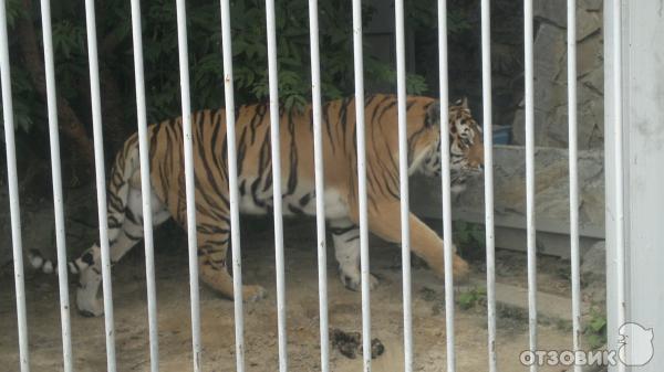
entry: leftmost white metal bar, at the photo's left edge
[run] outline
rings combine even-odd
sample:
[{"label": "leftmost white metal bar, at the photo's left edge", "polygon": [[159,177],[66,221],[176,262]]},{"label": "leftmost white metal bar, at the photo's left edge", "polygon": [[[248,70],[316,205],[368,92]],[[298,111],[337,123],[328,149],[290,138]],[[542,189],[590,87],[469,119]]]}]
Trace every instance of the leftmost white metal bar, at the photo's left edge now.
[{"label": "leftmost white metal bar, at the photo's left edge", "polygon": [[17,317],[19,323],[19,363],[21,372],[30,371],[28,347],[28,319],[25,315],[25,284],[23,279],[23,243],[21,241],[21,209],[17,178],[17,150],[14,144],[13,103],[11,98],[11,73],[7,38],[7,9],[0,0],[0,76],[2,77],[2,116],[7,150],[7,183],[9,184],[9,210],[11,214],[11,242],[13,247],[14,285],[17,291]]}]

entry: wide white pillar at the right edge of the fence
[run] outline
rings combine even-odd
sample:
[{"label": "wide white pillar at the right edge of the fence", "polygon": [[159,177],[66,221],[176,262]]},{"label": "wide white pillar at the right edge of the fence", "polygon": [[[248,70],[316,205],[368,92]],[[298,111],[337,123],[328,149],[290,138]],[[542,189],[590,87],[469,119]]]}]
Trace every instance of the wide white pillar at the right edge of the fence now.
[{"label": "wide white pillar at the right edge of the fence", "polygon": [[[621,1],[621,14],[615,12],[614,1]],[[622,326],[619,299],[622,272],[625,320],[652,329],[654,334],[651,343],[649,331],[635,329],[626,351],[632,350],[635,359],[647,358],[653,344],[653,358],[643,366],[626,366],[624,371],[655,372],[664,365],[664,11],[660,1],[608,0],[604,25],[608,349],[621,348],[618,340]],[[615,26],[619,33],[613,33]],[[616,35],[622,36],[622,49],[614,54]],[[622,74],[615,73],[616,63],[622,66]],[[618,110],[616,78],[622,85]],[[620,153],[614,145],[616,113],[622,118]],[[616,167],[615,161],[621,157],[622,164]],[[622,182],[618,184],[616,179]],[[619,244],[621,233],[616,224],[621,199],[623,244]],[[619,259],[621,246],[624,246],[624,270]],[[610,368],[610,371],[621,370],[618,365]]]}]

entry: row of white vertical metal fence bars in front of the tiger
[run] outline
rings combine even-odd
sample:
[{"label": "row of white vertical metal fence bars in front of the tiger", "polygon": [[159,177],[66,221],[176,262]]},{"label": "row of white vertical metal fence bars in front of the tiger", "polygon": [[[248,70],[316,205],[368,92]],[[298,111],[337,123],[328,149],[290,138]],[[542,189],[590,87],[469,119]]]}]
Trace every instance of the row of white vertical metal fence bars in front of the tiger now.
[{"label": "row of white vertical metal fence bars in front of the tiger", "polygon": [[[606,1],[612,6],[611,30],[612,32],[611,51],[612,61],[612,81],[614,83],[613,96],[608,96],[606,100],[613,105],[613,141],[606,144],[608,152],[613,152],[614,164],[614,189],[611,204],[615,206],[614,225],[609,226],[615,233],[615,262],[610,265],[610,277],[615,278],[614,289],[616,290],[616,300],[610,302],[610,309],[616,310],[615,322],[624,323],[627,318],[626,306],[626,281],[625,277],[625,238],[624,238],[624,209],[625,199],[623,198],[624,182],[624,160],[623,153],[623,125],[622,107],[624,97],[622,95],[622,15],[620,0]],[[279,370],[288,371],[288,350],[287,350],[287,327],[286,327],[286,285],[284,285],[284,262],[283,262],[283,222],[281,215],[281,194],[280,187],[280,149],[279,149],[279,109],[278,109],[278,82],[277,82],[277,45],[274,29],[274,1],[266,1],[266,20],[268,30],[268,54],[269,54],[269,92],[270,92],[270,119],[271,119],[271,140],[272,146],[272,166],[273,179],[273,206],[274,206],[274,243],[276,243],[276,263],[277,263],[277,306],[278,306],[278,342],[279,342]],[[328,297],[326,297],[326,270],[325,270],[325,225],[324,225],[324,203],[323,203],[323,157],[321,139],[321,79],[320,79],[320,57],[318,43],[318,3],[317,0],[310,0],[310,41],[311,41],[311,76],[312,76],[312,97],[313,97],[313,137],[315,156],[315,194],[317,194],[317,236],[318,236],[318,264],[319,264],[319,299],[320,299],[320,343],[321,343],[321,369],[329,371],[329,341],[328,341]],[[575,0],[568,0],[568,22],[575,24]],[[609,8],[609,7],[606,7]],[[94,19],[94,1],[85,1],[86,25],[87,25],[87,45],[90,62],[90,81],[93,110],[94,128],[94,148],[96,164],[96,184],[97,184],[97,204],[100,222],[100,241],[102,252],[102,274],[103,274],[103,294],[104,294],[104,316],[106,332],[106,358],[107,370],[115,371],[115,341],[114,341],[114,320],[113,302],[111,288],[111,262],[108,256],[107,221],[106,221],[106,192],[105,192],[105,172],[103,157],[102,138],[102,115],[100,100],[100,78],[97,71],[96,34]],[[526,76],[526,162],[527,162],[527,230],[528,230],[528,298],[529,298],[529,329],[530,341],[528,348],[531,351],[537,350],[537,247],[535,242],[536,219],[535,219],[535,141],[533,141],[533,13],[532,0],[525,0],[525,76]],[[51,160],[53,169],[53,193],[55,203],[55,223],[56,223],[56,243],[58,259],[60,263],[66,262],[64,222],[62,208],[62,182],[60,171],[60,148],[58,136],[58,117],[55,104],[55,82],[53,72],[53,46],[51,41],[50,24],[50,3],[49,0],[41,0],[43,39],[44,39],[44,61],[48,85],[48,106],[49,106],[49,128],[51,139]],[[225,91],[226,91],[226,119],[228,136],[228,163],[229,163],[229,188],[231,205],[231,242],[232,242],[232,267],[234,267],[234,288],[235,288],[235,325],[236,325],[236,365],[238,371],[245,371],[243,355],[243,309],[242,309],[242,276],[240,266],[240,242],[239,242],[239,212],[238,212],[238,183],[237,183],[237,156],[235,148],[235,102],[232,85],[232,53],[230,38],[230,17],[229,1],[220,0],[221,11],[221,34],[224,60],[219,63],[224,65]],[[448,79],[447,79],[447,13],[446,1],[438,1],[438,36],[439,36],[439,70],[440,70],[440,110],[442,118],[447,117],[448,109]],[[139,1],[132,0],[132,25],[134,41],[134,63],[136,76],[136,99],[138,109],[138,134],[141,147],[141,172],[143,194],[149,194],[149,170],[147,158],[147,134],[146,134],[146,108],[145,108],[145,87],[143,78],[143,51],[142,51],[142,30],[141,30],[141,9]],[[404,371],[413,371],[413,334],[412,328],[412,295],[411,295],[411,264],[409,264],[409,231],[407,223],[408,215],[408,179],[407,179],[407,159],[406,159],[406,88],[405,88],[405,40],[404,40],[404,3],[403,0],[396,0],[395,3],[396,21],[396,52],[397,52],[397,97],[398,97],[398,134],[400,134],[400,176],[401,176],[401,217],[402,217],[402,264],[403,264],[403,306],[404,306]],[[198,287],[198,259],[196,242],[196,214],[194,203],[194,169],[193,169],[193,140],[191,140],[191,113],[189,106],[189,74],[187,57],[187,30],[185,0],[177,0],[177,30],[179,45],[179,74],[181,87],[181,115],[184,127],[184,149],[185,149],[185,172],[186,172],[186,199],[187,199],[187,226],[188,226],[188,247],[189,247],[189,275],[190,275],[190,301],[191,301],[191,334],[193,334],[193,354],[194,370],[201,371],[203,344],[200,337],[200,309],[199,309],[199,287]],[[364,102],[364,82],[363,82],[363,57],[362,57],[362,12],[361,1],[353,0],[353,29],[354,44],[354,73],[355,73],[355,99],[359,103]],[[579,230],[578,230],[578,169],[577,169],[577,72],[575,72],[575,28],[568,29],[568,84],[569,84],[569,153],[570,153],[570,211],[571,211],[571,258],[572,258],[572,302],[570,309],[573,312],[573,348],[580,350],[581,325],[581,298],[579,280]],[[609,47],[609,46],[608,46]],[[494,172],[492,172],[492,137],[491,137],[491,63],[490,63],[490,2],[481,1],[481,52],[483,52],[483,100],[484,100],[484,144],[485,144],[485,200],[486,200],[486,256],[487,256],[487,295],[488,295],[488,369],[491,372],[498,371],[496,344],[500,342],[496,336],[496,268],[495,268],[495,238],[494,238]],[[23,259],[21,245],[19,193],[17,184],[15,149],[13,135],[13,115],[12,115],[12,95],[10,85],[10,64],[8,52],[7,35],[7,14],[6,0],[0,0],[0,67],[2,77],[2,105],[4,115],[4,138],[7,149],[7,169],[9,177],[11,220],[12,220],[12,243],[14,257],[15,293],[17,293],[17,316],[19,326],[19,348],[20,348],[20,369],[22,372],[30,370],[29,343],[28,343],[28,320],[25,315],[25,291],[23,284]],[[369,273],[369,225],[366,212],[366,161],[365,161],[365,137],[364,137],[364,107],[356,106],[357,121],[357,179],[360,195],[360,231],[361,231],[361,276],[362,276],[362,329],[363,329],[363,349],[371,350],[371,308],[370,308],[370,273]],[[443,119],[443,121],[445,121]],[[442,125],[442,158],[443,158],[443,211],[444,235],[452,236],[452,211],[450,211],[450,176],[449,176],[449,144],[446,134],[445,123]],[[145,216],[145,256],[146,256],[146,279],[148,293],[148,323],[151,341],[151,370],[158,371],[158,332],[157,332],[157,304],[155,294],[155,267],[154,267],[154,247],[151,219],[151,200],[144,198],[143,211]],[[446,288],[446,323],[440,327],[447,329],[447,371],[456,370],[455,364],[455,331],[454,331],[454,290],[452,276],[452,245],[445,245],[445,288]],[[611,261],[611,258],[609,258]],[[60,301],[62,318],[62,342],[63,342],[63,365],[65,371],[73,371],[70,331],[70,306],[69,288],[65,265],[59,265],[60,274]],[[611,297],[611,296],[610,296]],[[611,307],[613,306],[613,307]],[[364,371],[371,371],[371,353],[364,352]],[[439,366],[443,370],[443,366]],[[400,368],[401,370],[401,368]],[[531,371],[537,371],[537,365],[530,366]],[[624,370],[624,365],[620,369]],[[577,365],[574,371],[581,371]]]}]

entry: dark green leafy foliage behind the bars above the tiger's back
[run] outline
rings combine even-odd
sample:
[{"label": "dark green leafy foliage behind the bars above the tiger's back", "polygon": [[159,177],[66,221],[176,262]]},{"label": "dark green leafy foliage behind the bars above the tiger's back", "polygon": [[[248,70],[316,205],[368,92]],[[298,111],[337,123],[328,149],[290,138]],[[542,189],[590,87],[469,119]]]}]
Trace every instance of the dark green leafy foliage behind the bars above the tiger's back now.
[{"label": "dark green leafy foliage behind the bars above the tiger's back", "polygon": [[[35,34],[41,36],[39,4],[25,10],[20,0],[9,0],[10,28],[19,17],[31,17]],[[148,120],[176,116],[180,110],[178,46],[175,1],[153,0],[143,3],[143,47]],[[346,0],[330,0],[319,4],[321,78],[323,99],[334,99],[354,92],[352,8]],[[412,28],[435,30],[434,0],[407,1],[407,20]],[[236,103],[250,104],[267,100],[268,55],[264,2],[262,0],[231,0],[230,19],[234,54]],[[277,50],[280,102],[286,109],[300,109],[310,100],[309,11],[307,0],[277,2]],[[87,47],[83,2],[53,4],[53,46],[58,93],[66,98],[80,117],[89,117]],[[129,3],[121,0],[97,2],[98,60],[102,68],[102,99],[104,79],[113,78],[126,100],[124,111],[112,113],[134,126],[134,64]],[[467,29],[463,17],[450,12],[450,32]],[[365,24],[374,9],[363,9]],[[217,2],[187,1],[188,54],[191,107],[224,105],[224,68],[221,56],[220,12]],[[10,32],[12,52],[20,43]],[[41,47],[41,45],[40,45]],[[364,74],[367,86],[395,86],[394,66],[378,61],[365,49]],[[30,128],[31,116],[43,111],[35,107],[39,99],[27,73],[12,57],[14,82],[14,113],[20,127]],[[107,72],[104,74],[104,71]],[[427,92],[427,82],[417,74],[408,74],[409,94]],[[42,105],[40,103],[39,105]],[[105,113],[108,115],[107,113]]]}]

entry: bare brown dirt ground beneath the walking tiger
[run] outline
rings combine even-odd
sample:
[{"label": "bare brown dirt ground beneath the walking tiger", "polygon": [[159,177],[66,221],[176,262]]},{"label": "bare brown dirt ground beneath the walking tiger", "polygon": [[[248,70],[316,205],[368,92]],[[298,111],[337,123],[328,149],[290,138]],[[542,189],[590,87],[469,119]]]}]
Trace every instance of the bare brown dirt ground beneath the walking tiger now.
[{"label": "bare brown dirt ground beneath the walking tiger", "polygon": [[[186,242],[180,233],[157,237],[157,295],[162,371],[191,370],[191,336]],[[174,238],[174,236],[176,236]],[[272,232],[269,228],[243,234],[243,278],[268,289],[266,299],[245,305],[247,371],[278,371],[277,313]],[[320,370],[319,301],[313,221],[291,223],[286,230],[288,355],[290,371]],[[403,371],[403,313],[401,253],[395,245],[372,238],[371,267],[381,279],[372,291],[372,337],[385,346],[374,360],[373,371]],[[164,245],[179,249],[159,249]],[[118,371],[149,370],[146,287],[142,244],[113,269],[115,340]],[[481,254],[479,255],[481,256]],[[520,268],[519,263],[523,263]],[[519,265],[519,267],[516,267]],[[561,265],[541,265],[540,283],[552,293],[569,293]],[[484,277],[483,264],[474,276]],[[330,327],[361,331],[361,298],[345,289],[336,275],[333,252],[329,249]],[[499,253],[499,281],[526,283],[525,257]],[[70,280],[72,281],[72,280]],[[0,277],[0,368],[18,371],[18,342],[13,277],[4,269]],[[55,276],[27,274],[30,359],[33,371],[61,371],[60,310]],[[74,294],[75,286],[70,286]],[[72,305],[73,306],[73,305]],[[203,364],[205,371],[234,371],[232,302],[218,298],[201,286]],[[444,284],[427,268],[413,269],[413,327],[416,371],[443,371],[446,363]],[[487,370],[486,307],[456,308],[457,371]],[[569,349],[571,333],[556,323],[540,325],[542,349]],[[73,354],[76,371],[105,370],[103,318],[84,318],[72,311]],[[527,321],[500,315],[498,319],[498,364],[501,371],[526,371],[519,353],[528,346]],[[331,350],[332,371],[360,371],[362,360],[347,359]],[[541,368],[561,371],[562,368]]]}]

